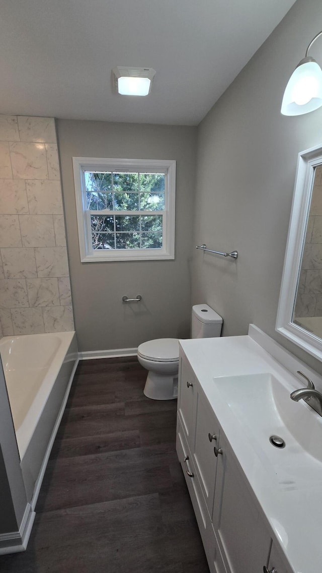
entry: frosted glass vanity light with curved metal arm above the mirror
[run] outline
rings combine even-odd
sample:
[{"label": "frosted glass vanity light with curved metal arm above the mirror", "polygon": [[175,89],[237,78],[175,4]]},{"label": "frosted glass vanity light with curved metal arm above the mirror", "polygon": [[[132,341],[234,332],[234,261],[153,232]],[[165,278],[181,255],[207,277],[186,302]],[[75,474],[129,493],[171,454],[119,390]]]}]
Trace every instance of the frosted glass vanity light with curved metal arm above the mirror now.
[{"label": "frosted glass vanity light with curved metal arm above the mirror", "polygon": [[308,51],[313,42],[322,35],[317,34],[308,45],[305,58],[297,64],[288,80],[282,101],[283,115],[302,115],[322,105],[322,70]]}]

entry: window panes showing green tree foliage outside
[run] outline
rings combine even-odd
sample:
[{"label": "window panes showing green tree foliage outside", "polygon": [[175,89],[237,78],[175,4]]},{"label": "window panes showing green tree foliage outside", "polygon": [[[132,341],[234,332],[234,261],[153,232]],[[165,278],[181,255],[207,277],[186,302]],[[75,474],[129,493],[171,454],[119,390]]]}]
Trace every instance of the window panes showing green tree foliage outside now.
[{"label": "window panes showing green tree foliage outside", "polygon": [[163,173],[86,171],[85,186],[94,250],[162,249]]}]

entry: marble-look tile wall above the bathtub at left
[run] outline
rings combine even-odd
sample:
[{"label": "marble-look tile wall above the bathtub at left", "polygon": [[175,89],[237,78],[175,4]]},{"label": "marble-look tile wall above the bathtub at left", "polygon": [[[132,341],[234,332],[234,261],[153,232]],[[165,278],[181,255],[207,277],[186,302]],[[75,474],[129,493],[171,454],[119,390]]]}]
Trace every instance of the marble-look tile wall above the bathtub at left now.
[{"label": "marble-look tile wall above the bathtub at left", "polygon": [[74,329],[51,117],[0,115],[0,336]]}]

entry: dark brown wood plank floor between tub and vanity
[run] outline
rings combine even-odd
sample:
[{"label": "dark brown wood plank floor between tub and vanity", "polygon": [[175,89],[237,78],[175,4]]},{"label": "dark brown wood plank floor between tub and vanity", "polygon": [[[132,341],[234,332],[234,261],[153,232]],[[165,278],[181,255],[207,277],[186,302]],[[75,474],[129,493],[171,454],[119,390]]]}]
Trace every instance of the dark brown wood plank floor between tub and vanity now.
[{"label": "dark brown wood plank floor between tub and vanity", "polygon": [[3,573],[209,573],[176,454],[176,401],[136,358],[80,362],[27,551]]}]

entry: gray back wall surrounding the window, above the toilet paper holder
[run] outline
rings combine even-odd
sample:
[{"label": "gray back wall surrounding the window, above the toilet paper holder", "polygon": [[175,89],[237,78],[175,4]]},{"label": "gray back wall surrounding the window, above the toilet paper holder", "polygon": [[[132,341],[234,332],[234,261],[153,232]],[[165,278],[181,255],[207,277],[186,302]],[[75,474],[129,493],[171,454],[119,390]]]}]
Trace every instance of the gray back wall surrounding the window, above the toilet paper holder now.
[{"label": "gray back wall surrounding the window, above the toilet paper holder", "polygon": [[[188,337],[196,128],[72,120],[58,120],[57,127],[79,350]],[[175,260],[80,262],[73,156],[177,161]],[[142,303],[122,303],[123,295],[138,294]]]}]

